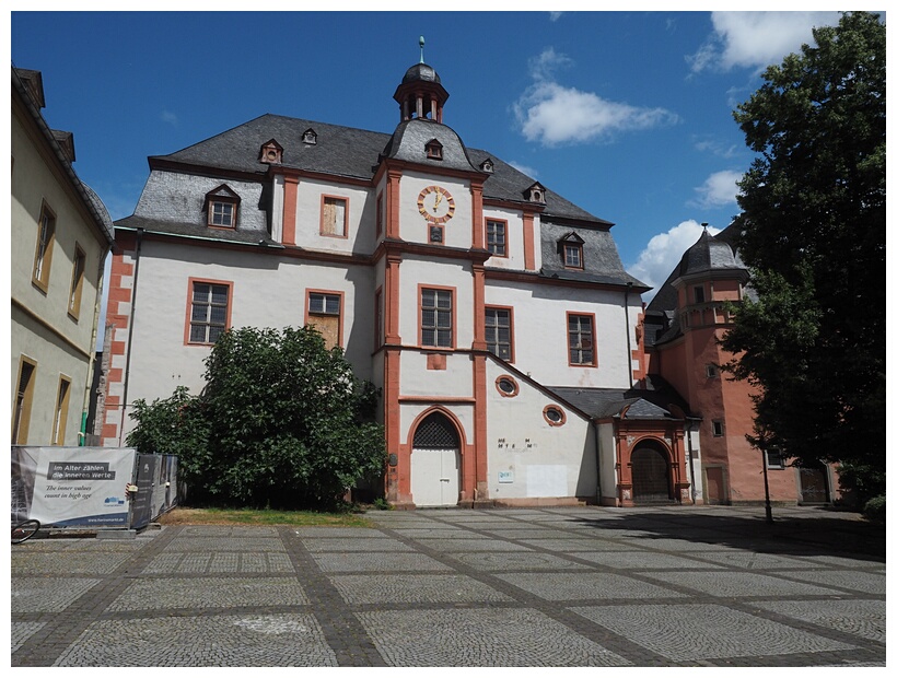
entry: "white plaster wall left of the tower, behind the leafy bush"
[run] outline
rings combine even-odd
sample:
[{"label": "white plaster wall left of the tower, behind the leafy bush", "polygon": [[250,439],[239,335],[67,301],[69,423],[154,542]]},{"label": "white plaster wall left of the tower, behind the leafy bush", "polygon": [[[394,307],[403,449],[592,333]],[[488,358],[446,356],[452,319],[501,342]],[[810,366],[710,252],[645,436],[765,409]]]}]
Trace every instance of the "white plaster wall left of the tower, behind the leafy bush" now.
[{"label": "white plaster wall left of the tower, behind the leafy bush", "polygon": [[[306,289],[343,293],[342,346],[360,378],[372,376],[373,269],[247,255],[220,248],[178,247],[144,241],[135,300],[128,401],[167,398],[178,385],[194,394],[203,385],[210,349],[184,343],[189,278],[233,283],[231,327],[301,327]],[[128,308],[127,305],[124,306]],[[127,332],[116,332],[116,341]],[[125,369],[125,356],[113,367]],[[113,395],[118,395],[113,391]],[[132,428],[125,421],[126,432]]]}]

